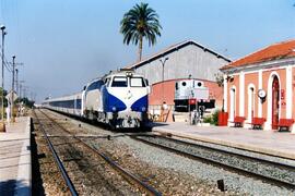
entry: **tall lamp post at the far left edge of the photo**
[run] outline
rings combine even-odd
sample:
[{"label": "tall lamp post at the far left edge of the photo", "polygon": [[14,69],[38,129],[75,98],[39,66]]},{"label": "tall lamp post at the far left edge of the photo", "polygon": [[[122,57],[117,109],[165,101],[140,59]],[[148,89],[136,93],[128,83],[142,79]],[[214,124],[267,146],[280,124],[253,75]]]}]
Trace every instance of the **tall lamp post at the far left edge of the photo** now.
[{"label": "tall lamp post at the far left edge of the photo", "polygon": [[5,36],[5,26],[1,25],[0,29],[2,32],[2,90],[1,90],[1,120],[2,120],[2,126],[1,131],[5,132],[5,124],[4,124],[4,36]]}]

